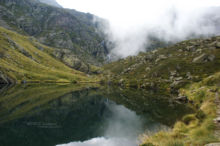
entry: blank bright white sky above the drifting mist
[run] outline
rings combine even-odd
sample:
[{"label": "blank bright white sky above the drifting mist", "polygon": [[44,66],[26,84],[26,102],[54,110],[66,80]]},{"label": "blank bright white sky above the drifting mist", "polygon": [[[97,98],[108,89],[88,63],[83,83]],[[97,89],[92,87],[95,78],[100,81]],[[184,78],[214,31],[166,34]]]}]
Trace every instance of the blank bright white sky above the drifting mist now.
[{"label": "blank bright white sky above the drifting mist", "polygon": [[118,25],[143,23],[145,18],[155,17],[169,7],[188,11],[207,6],[220,6],[220,0],[57,0],[57,2],[64,8],[89,12]]}]

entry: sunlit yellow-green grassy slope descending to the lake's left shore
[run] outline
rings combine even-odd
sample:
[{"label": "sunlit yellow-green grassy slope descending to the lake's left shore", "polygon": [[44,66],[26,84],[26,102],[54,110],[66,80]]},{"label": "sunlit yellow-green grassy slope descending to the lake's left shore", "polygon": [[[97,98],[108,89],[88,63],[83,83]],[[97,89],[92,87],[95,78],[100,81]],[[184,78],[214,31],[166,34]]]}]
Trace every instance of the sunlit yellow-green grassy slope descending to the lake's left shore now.
[{"label": "sunlit yellow-green grassy slope descending to the lake's left shore", "polygon": [[92,81],[52,57],[53,50],[0,27],[0,83]]}]

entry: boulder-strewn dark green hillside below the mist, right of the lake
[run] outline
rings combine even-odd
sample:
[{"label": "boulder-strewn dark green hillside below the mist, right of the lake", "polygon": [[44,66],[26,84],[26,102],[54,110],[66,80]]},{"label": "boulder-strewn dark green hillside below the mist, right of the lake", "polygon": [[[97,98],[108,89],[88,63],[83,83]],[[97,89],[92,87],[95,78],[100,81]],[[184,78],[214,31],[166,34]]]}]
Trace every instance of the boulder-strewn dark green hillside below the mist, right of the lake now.
[{"label": "boulder-strewn dark green hillside below the mist, right of the lake", "polygon": [[220,37],[180,42],[105,65],[108,80],[122,86],[179,87],[220,71]]}]

